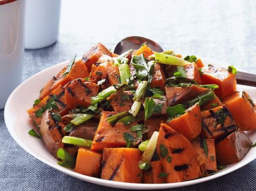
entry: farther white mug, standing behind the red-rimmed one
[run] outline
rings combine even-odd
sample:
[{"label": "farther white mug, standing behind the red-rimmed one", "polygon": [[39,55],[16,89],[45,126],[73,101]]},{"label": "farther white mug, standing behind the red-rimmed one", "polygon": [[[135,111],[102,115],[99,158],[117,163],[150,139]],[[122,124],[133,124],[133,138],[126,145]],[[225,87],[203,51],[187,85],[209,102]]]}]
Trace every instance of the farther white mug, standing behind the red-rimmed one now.
[{"label": "farther white mug, standing behind the red-rimmed one", "polygon": [[59,34],[61,0],[26,0],[25,48],[43,48]]}]

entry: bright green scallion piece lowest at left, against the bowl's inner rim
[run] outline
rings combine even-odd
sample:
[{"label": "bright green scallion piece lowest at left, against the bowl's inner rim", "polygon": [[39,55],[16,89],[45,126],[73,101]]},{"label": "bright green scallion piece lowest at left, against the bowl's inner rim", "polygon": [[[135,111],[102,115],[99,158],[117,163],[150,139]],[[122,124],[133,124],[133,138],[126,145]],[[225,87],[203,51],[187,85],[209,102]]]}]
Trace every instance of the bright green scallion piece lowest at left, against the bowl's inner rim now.
[{"label": "bright green scallion piece lowest at left, against the bowl's inner rim", "polygon": [[57,157],[61,159],[61,161],[58,161],[59,165],[64,166],[66,168],[71,168],[71,169],[75,167],[75,163],[76,163],[75,158],[63,148],[58,149]]}]

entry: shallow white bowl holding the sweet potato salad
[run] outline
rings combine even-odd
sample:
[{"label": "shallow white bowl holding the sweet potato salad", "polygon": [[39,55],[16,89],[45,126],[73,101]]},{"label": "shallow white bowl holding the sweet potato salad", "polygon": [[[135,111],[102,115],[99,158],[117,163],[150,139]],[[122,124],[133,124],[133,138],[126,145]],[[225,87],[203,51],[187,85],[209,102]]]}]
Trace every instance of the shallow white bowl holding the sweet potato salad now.
[{"label": "shallow white bowl holding the sweet potato salad", "polygon": [[[210,59],[203,59],[205,63]],[[166,184],[135,184],[135,183],[124,183],[115,182],[110,180],[104,180],[100,178],[90,177],[78,174],[70,169],[64,168],[57,164],[56,159],[54,159],[48,152],[43,141],[41,139],[35,138],[28,134],[28,131],[32,129],[33,124],[26,112],[27,109],[32,107],[34,100],[38,98],[40,89],[46,84],[46,82],[58,71],[60,71],[68,62],[62,62],[56,64],[42,72],[36,73],[26,81],[24,81],[20,86],[18,86],[13,93],[10,95],[4,110],[5,123],[8,131],[16,140],[16,142],[24,148],[28,153],[34,156],[41,162],[48,164],[49,166],[81,180],[91,182],[94,184],[99,184],[102,186],[122,188],[122,189],[167,189],[175,187],[183,187],[192,184],[198,184],[205,182],[223,175],[226,175],[234,170],[241,168],[242,166],[248,164],[249,162],[256,159],[256,148],[252,148],[243,160],[240,162],[227,165],[227,167],[219,173],[207,176],[203,178],[198,178],[195,180],[189,180],[185,182],[177,183],[166,183]],[[222,62],[212,61],[210,62],[216,66],[226,67],[227,65]],[[244,89],[249,93],[253,100],[256,100],[256,88],[247,86],[238,86],[238,89]],[[251,131],[247,133],[253,142],[256,142],[256,131]],[[241,177],[246,178],[246,177]]]}]

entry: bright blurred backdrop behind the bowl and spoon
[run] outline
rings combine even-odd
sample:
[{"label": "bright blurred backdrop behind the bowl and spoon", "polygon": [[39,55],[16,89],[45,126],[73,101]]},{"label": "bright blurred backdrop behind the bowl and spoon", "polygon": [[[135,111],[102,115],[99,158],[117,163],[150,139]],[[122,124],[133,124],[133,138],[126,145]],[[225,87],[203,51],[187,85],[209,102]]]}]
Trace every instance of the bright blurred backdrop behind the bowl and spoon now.
[{"label": "bright blurred backdrop behind the bowl and spoon", "polygon": [[82,56],[98,42],[113,50],[132,35],[256,73],[255,10],[255,0],[63,0],[59,40],[25,51],[24,79],[76,53]]}]

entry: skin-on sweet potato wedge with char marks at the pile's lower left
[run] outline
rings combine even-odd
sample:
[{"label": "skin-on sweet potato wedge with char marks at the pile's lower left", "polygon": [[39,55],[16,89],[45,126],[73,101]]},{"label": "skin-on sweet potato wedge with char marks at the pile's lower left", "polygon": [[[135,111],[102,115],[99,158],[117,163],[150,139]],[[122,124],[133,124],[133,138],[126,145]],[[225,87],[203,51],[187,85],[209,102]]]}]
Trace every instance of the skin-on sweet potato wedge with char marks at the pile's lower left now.
[{"label": "skin-on sweet potato wedge with char marks at the pile's lower left", "polygon": [[45,146],[55,158],[57,158],[57,150],[64,147],[62,143],[62,138],[65,135],[64,127],[63,123],[56,121],[52,117],[50,110],[46,110],[42,116],[40,132]]}]

